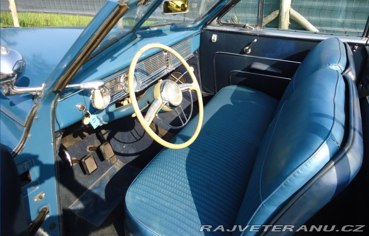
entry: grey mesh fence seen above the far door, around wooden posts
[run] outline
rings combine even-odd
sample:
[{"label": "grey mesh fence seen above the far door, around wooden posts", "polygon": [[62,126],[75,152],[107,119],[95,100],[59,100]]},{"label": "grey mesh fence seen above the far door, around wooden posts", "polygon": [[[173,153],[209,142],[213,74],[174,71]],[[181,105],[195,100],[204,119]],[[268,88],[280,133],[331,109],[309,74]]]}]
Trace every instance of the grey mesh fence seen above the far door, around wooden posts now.
[{"label": "grey mesh fence seen above the far door, around wooden posts", "polygon": [[[257,24],[258,0],[241,0],[221,18],[223,23]],[[263,17],[278,10],[280,0],[265,0]],[[291,8],[306,18],[319,32],[361,36],[369,15],[369,0],[292,0]],[[267,24],[278,28],[278,17]],[[290,19],[290,29],[304,30]]]}]

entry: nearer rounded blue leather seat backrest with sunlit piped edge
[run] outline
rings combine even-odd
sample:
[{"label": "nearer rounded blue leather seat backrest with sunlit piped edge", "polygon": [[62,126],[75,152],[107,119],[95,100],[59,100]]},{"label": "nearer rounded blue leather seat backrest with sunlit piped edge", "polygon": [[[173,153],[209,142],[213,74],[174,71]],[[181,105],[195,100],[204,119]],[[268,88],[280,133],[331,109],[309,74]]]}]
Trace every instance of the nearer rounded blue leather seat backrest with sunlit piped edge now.
[{"label": "nearer rounded blue leather seat backrest with sunlit piped edge", "polygon": [[339,151],[344,124],[341,74],[322,69],[302,81],[263,137],[235,225],[265,224]]}]

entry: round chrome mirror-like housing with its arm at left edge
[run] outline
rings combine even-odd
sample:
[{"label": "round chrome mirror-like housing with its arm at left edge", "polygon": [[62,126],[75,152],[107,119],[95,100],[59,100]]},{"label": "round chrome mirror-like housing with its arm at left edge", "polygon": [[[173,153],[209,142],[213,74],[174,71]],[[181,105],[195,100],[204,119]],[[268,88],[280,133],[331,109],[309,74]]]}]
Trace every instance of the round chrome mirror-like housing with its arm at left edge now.
[{"label": "round chrome mirror-like housing with its arm at left edge", "polygon": [[26,61],[18,51],[0,45],[0,84],[2,93],[7,95],[30,93],[42,97],[45,84],[41,87],[16,87],[15,82],[22,78]]}]

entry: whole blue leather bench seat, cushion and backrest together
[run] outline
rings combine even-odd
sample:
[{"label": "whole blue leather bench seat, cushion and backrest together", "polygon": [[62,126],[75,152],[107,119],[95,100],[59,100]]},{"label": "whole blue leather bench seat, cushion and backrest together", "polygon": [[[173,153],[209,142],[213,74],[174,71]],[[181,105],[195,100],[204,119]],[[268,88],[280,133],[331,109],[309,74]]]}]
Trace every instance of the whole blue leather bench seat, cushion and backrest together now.
[{"label": "whole blue leather bench seat, cushion and backrest together", "polygon": [[[201,225],[214,230],[268,224],[341,150],[348,122],[345,95],[350,93],[341,76],[345,58],[337,38],[322,41],[301,63],[281,101],[236,85],[219,91],[204,108],[196,141],[183,149],[163,149],[130,186],[128,232],[201,235]],[[173,141],[188,139],[196,124],[194,118]],[[323,186],[327,191],[320,197],[332,198],[336,185],[351,181],[361,164],[360,145],[357,149],[345,178],[332,181],[333,188]],[[294,223],[304,223],[322,207],[308,202],[293,214]]]}]

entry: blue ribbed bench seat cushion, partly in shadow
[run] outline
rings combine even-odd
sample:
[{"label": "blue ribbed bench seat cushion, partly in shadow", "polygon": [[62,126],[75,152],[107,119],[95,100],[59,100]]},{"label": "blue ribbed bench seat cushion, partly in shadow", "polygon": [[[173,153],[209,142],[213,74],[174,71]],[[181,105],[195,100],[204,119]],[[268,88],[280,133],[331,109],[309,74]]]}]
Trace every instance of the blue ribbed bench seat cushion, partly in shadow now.
[{"label": "blue ribbed bench seat cushion, partly in shadow", "polygon": [[[134,235],[194,235],[203,234],[201,225],[233,226],[277,104],[240,86],[219,91],[204,108],[196,141],[183,149],[163,149],[128,189],[127,230]],[[196,125],[197,117],[173,141],[187,140]]]}]

